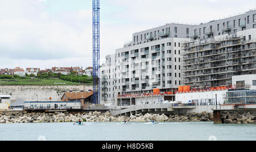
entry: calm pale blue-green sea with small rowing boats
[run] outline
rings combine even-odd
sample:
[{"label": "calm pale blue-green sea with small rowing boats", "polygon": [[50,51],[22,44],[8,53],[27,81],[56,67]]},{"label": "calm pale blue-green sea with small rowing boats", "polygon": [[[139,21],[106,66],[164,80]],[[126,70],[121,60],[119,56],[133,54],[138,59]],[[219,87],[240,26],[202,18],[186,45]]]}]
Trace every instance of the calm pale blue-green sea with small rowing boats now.
[{"label": "calm pale blue-green sea with small rowing boats", "polygon": [[256,140],[256,125],[213,123],[0,124],[1,140],[170,141]]}]

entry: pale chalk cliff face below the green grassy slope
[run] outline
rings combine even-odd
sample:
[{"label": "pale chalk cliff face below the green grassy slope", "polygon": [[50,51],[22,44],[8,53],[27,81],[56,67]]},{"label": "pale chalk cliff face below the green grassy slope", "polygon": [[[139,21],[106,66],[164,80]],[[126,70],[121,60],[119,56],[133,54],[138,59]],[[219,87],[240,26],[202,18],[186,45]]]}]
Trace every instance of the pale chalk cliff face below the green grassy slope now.
[{"label": "pale chalk cliff face below the green grassy slope", "polygon": [[28,102],[32,101],[52,101],[60,100],[64,92],[73,91],[88,91],[92,90],[92,86],[72,85],[72,86],[0,86],[0,94],[11,94],[11,100],[23,99]]}]

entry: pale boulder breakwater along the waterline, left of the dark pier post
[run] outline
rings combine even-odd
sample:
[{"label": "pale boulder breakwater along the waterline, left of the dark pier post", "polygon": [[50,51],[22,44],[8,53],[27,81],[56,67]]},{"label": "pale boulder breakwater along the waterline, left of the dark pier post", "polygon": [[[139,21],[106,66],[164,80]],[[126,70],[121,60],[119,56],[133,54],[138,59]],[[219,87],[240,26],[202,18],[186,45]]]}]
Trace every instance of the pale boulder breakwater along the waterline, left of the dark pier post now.
[{"label": "pale boulder breakwater along the waterline, left of the dark pier post", "polygon": [[113,116],[110,112],[89,112],[89,113],[23,113],[23,112],[8,112],[0,113],[0,123],[64,123],[64,122],[120,122],[120,121],[131,121],[131,122],[149,122],[152,119],[164,122],[188,122],[188,121],[212,121],[212,113],[191,113],[184,115],[170,115],[164,114],[152,114],[142,113],[130,115],[130,116]]}]

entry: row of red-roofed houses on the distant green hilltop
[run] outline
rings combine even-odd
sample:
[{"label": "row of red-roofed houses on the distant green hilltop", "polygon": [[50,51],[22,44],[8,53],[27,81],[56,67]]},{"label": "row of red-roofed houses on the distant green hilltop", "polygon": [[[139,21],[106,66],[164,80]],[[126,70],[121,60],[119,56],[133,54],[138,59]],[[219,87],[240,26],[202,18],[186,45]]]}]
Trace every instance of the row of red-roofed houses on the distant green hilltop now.
[{"label": "row of red-roofed houses on the distant green hilltop", "polygon": [[87,67],[86,69],[82,69],[82,67],[52,67],[51,69],[40,70],[40,68],[26,68],[26,70],[21,67],[15,67],[14,69],[1,69],[0,75],[19,75],[20,77],[24,77],[26,74],[43,74],[43,73],[60,73],[63,75],[68,75],[70,73],[75,72],[78,75],[88,75],[92,76],[93,67]]}]

